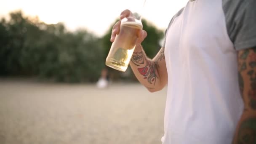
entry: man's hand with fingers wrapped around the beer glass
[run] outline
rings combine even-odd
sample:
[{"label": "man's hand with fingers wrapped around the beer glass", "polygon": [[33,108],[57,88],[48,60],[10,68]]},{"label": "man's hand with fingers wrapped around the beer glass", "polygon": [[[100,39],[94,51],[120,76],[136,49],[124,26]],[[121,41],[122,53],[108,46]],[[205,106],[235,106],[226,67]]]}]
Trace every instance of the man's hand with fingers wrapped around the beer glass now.
[{"label": "man's hand with fingers wrapped around the beer glass", "polygon": [[[131,11],[129,10],[124,10],[121,14],[120,14],[120,19],[124,19],[125,17],[129,17],[131,16]],[[120,25],[121,25],[121,20],[117,21],[117,23],[114,25],[113,29],[112,29],[112,34],[111,34],[111,38],[110,41],[114,42],[116,35],[118,35],[119,31],[120,31]],[[144,30],[139,30],[138,32],[138,39],[136,42],[136,45],[140,45],[141,42],[145,39],[145,37],[147,37],[147,32]]]}]

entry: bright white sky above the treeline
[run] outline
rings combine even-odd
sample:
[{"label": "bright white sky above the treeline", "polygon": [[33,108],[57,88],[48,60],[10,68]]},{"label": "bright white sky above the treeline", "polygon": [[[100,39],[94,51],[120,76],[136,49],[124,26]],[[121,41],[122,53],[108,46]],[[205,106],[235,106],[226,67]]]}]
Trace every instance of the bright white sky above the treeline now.
[{"label": "bright white sky above the treeline", "polygon": [[[165,30],[187,1],[147,0],[143,17]],[[144,0],[1,0],[0,17],[22,10],[26,16],[39,16],[48,24],[64,22],[69,30],[86,28],[102,36],[123,10],[140,9],[143,3]]]}]

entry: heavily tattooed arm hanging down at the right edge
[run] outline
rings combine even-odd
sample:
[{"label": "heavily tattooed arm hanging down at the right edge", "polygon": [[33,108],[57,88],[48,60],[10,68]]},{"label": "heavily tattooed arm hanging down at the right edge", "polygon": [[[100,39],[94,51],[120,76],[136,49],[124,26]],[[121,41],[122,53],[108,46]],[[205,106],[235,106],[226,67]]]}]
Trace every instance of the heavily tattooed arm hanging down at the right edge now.
[{"label": "heavily tattooed arm hanging down at the right edge", "polygon": [[238,78],[245,109],[233,144],[256,144],[256,47],[238,51]]}]

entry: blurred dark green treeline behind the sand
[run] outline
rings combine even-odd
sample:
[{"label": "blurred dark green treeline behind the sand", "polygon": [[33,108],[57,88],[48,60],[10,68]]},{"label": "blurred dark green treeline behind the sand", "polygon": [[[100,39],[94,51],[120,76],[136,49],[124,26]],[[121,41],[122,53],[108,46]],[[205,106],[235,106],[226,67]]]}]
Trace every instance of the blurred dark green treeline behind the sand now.
[{"label": "blurred dark green treeline behind the sand", "polygon": [[[24,16],[21,11],[12,12],[9,17],[0,21],[0,76],[94,82],[106,67],[112,26],[103,37],[96,37],[85,29],[70,32],[62,23],[45,24],[37,17]],[[143,24],[148,37],[142,45],[149,57],[153,57],[160,48],[163,31],[145,20]],[[109,74],[115,79],[123,75],[113,69],[109,69]]]}]

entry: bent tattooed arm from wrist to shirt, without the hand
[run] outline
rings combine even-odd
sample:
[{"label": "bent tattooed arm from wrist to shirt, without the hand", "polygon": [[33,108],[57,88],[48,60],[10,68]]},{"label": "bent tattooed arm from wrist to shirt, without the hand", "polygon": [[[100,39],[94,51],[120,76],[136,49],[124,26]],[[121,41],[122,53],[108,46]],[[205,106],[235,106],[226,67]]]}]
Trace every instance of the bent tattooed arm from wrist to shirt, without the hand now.
[{"label": "bent tattooed arm from wrist to shirt, without the hand", "polygon": [[147,58],[141,45],[137,45],[131,58],[130,66],[139,82],[150,92],[160,91],[167,83],[164,48],[154,59]]}]

